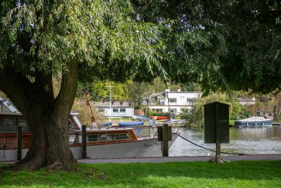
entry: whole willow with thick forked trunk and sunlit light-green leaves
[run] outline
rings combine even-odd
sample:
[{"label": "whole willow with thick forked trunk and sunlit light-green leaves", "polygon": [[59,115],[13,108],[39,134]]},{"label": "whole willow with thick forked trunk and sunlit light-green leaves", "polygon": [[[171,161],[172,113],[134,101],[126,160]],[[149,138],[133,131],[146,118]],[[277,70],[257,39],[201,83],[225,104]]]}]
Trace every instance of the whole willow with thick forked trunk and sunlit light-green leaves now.
[{"label": "whole willow with thick forked trunk and sunlit light-green leaves", "polygon": [[[4,0],[0,5],[0,90],[32,132],[19,169],[76,162],[66,124],[78,79],[120,81],[140,70],[147,77],[165,75],[157,53],[162,27],[138,21],[130,1]],[[57,96],[55,76],[61,77]]]}]

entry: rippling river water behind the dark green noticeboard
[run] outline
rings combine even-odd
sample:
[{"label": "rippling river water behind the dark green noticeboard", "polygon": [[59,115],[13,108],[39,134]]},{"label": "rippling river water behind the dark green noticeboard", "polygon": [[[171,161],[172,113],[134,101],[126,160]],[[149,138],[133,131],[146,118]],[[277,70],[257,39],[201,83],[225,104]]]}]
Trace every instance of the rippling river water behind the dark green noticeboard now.
[{"label": "rippling river water behind the dark green noticeboard", "polygon": [[[180,135],[195,144],[215,150],[215,144],[204,144],[204,129],[180,128]],[[221,152],[253,154],[281,154],[281,126],[230,127],[230,143],[221,144]],[[199,148],[178,137],[169,156],[212,156],[215,152]]]}]

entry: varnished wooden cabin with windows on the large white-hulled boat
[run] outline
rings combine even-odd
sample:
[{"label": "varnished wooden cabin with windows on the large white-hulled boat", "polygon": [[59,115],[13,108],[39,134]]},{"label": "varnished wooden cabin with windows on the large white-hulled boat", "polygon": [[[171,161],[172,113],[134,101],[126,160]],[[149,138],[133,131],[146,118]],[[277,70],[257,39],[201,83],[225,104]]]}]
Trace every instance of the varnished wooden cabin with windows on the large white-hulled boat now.
[{"label": "varnished wooden cabin with windows on the large white-hulled boat", "polygon": [[[0,98],[0,149],[17,148],[17,129],[22,127],[22,148],[28,149],[31,131],[27,120],[8,100]],[[69,144],[82,146],[82,124],[77,118],[79,113],[71,112],[69,117]],[[103,128],[86,130],[87,145],[112,144],[137,140],[133,129]]]}]

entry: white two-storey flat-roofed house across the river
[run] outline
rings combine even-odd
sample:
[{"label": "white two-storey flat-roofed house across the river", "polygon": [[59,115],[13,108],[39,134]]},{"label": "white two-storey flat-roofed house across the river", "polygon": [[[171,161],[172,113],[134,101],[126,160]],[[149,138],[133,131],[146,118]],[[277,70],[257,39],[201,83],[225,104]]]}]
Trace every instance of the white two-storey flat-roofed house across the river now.
[{"label": "white two-storey flat-roofed house across the river", "polygon": [[191,109],[195,98],[201,96],[201,92],[181,92],[180,89],[175,92],[165,90],[164,94],[158,97],[158,103],[149,103],[150,110],[178,114],[182,108]]}]

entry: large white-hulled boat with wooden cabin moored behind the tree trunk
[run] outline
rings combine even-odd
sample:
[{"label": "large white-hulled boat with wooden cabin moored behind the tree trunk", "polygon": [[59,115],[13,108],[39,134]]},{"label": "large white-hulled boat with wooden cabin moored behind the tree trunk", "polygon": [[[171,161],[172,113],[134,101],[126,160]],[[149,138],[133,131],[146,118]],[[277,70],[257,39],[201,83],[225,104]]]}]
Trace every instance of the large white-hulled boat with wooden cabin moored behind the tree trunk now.
[{"label": "large white-hulled boat with wooden cabin moored behind the tree trunk", "polygon": [[[7,102],[5,100],[5,102]],[[31,144],[29,126],[25,117],[10,103],[0,98],[0,161],[17,160],[17,127],[22,126],[22,159]],[[79,113],[70,113],[69,146],[73,157],[82,157],[82,124],[77,118]],[[136,123],[136,122],[135,122]],[[143,122],[140,123],[143,125]],[[169,147],[177,139],[178,130],[173,131]],[[86,129],[87,157],[123,158],[123,157],[161,157],[161,142],[158,142],[157,127],[103,127]]]}]

